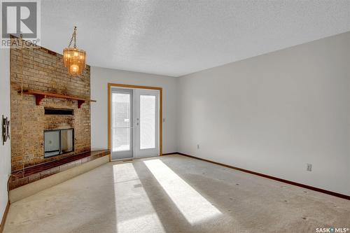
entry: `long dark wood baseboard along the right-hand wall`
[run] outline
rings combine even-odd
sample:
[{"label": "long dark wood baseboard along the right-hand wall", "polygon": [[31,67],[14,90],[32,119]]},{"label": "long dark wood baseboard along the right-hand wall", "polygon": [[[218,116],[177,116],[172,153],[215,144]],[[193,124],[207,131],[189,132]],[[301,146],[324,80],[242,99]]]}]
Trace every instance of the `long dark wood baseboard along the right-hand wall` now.
[{"label": "long dark wood baseboard along the right-hand wall", "polygon": [[313,187],[313,186],[309,186],[309,185],[304,185],[302,183],[297,183],[297,182],[294,182],[294,181],[287,181],[287,180],[284,180],[282,178],[278,178],[278,177],[274,177],[274,176],[269,176],[269,175],[265,175],[265,174],[261,174],[261,173],[258,173],[258,172],[255,172],[255,171],[249,171],[249,170],[246,170],[246,169],[241,169],[239,167],[234,167],[234,166],[231,166],[231,165],[228,165],[228,164],[222,164],[220,162],[214,162],[214,161],[211,161],[211,160],[206,160],[206,159],[202,159],[200,157],[195,157],[193,155],[187,155],[187,154],[184,154],[184,153],[177,153],[179,155],[183,155],[183,156],[186,156],[186,157],[191,157],[193,159],[197,159],[197,160],[202,160],[202,161],[205,161],[205,162],[211,162],[212,164],[217,164],[217,165],[220,165],[220,166],[223,166],[223,167],[228,167],[230,169],[235,169],[235,170],[238,170],[238,171],[243,171],[243,172],[246,172],[248,174],[253,174],[253,175],[256,175],[256,176],[262,176],[264,178],[269,178],[269,179],[272,179],[274,181],[279,181],[279,182],[283,182],[283,183],[288,183],[290,185],[295,185],[295,186],[298,186],[298,187],[301,187],[301,188],[307,188],[309,190],[314,190],[316,192],[323,192],[327,195],[332,195],[332,196],[335,196],[335,197],[340,197],[340,198],[344,198],[344,199],[348,199],[350,200],[350,196],[347,196],[347,195],[343,195],[341,193],[337,193],[337,192],[332,192],[332,191],[329,191],[329,190],[323,190],[321,188],[316,188],[316,187]]}]

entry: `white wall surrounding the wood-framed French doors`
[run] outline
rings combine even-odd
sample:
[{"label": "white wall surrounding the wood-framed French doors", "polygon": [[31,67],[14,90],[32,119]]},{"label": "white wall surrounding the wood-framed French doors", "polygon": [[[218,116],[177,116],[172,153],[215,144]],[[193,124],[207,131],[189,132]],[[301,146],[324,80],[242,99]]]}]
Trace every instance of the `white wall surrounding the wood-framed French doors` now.
[{"label": "white wall surrounding the wood-framed French doors", "polygon": [[120,71],[91,67],[91,146],[108,147],[108,83],[144,85],[163,88],[163,153],[173,153],[176,148],[176,78],[147,73]]}]

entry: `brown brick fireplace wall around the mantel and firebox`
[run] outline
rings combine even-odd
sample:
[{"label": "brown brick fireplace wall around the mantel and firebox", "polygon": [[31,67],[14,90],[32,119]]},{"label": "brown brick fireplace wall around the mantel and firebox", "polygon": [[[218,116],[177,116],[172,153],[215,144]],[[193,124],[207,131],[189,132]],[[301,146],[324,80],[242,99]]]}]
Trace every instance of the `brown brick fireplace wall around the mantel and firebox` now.
[{"label": "brown brick fireplace wall around the mantel and firebox", "polygon": [[[90,66],[81,76],[70,76],[63,66],[62,55],[45,48],[24,49],[22,54],[23,62],[19,49],[10,50],[12,171],[90,151],[90,103],[78,108],[76,101],[48,98],[36,106],[34,96],[18,94],[23,83],[25,90],[90,99]],[[45,115],[44,107],[71,108],[74,115]],[[74,128],[75,151],[44,158],[43,131],[66,128]]]}]

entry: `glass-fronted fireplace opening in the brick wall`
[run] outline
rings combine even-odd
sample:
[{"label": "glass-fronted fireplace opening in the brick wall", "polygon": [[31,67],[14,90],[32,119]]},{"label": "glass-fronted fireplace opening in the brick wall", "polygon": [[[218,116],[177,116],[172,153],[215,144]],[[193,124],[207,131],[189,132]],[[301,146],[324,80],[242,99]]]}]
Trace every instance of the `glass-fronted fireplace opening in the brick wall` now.
[{"label": "glass-fronted fireplace opening in the brick wall", "polygon": [[63,155],[74,151],[74,129],[44,131],[44,157]]}]

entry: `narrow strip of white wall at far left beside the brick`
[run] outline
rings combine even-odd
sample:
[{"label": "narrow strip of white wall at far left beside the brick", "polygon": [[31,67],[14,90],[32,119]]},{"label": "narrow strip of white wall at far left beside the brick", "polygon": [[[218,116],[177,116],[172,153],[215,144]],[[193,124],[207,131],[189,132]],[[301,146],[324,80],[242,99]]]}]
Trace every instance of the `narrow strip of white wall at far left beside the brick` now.
[{"label": "narrow strip of white wall at far left beside the brick", "polygon": [[[10,118],[10,50],[0,49],[0,133],[2,115]],[[10,141],[2,145],[0,135],[0,221],[8,202],[7,181],[10,175]]]}]

